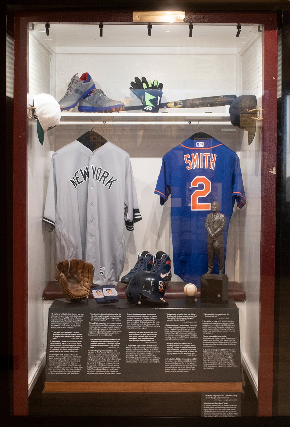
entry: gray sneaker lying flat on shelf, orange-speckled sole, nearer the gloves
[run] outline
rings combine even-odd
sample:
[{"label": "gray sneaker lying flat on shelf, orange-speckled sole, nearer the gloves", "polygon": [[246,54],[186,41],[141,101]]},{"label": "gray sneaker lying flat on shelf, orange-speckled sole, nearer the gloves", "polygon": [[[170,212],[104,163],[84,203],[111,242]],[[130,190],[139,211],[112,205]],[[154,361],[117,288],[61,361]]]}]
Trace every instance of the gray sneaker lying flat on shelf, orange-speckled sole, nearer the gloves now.
[{"label": "gray sneaker lying flat on shelf, orange-speckled sole, nearer the gloves", "polygon": [[102,89],[93,89],[78,104],[81,113],[113,113],[123,111],[124,102],[108,98]]}]

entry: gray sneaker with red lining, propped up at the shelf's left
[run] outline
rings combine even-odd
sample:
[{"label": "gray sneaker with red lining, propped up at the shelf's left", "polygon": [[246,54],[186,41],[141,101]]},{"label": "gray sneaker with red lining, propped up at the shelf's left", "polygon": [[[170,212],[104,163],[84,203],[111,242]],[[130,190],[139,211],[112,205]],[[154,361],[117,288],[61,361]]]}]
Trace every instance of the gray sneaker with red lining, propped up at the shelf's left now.
[{"label": "gray sneaker with red lining, propped up at the shelf's left", "polygon": [[75,74],[68,85],[64,97],[58,102],[61,111],[70,110],[77,103],[86,97],[96,86],[89,73],[83,73],[80,78]]}]

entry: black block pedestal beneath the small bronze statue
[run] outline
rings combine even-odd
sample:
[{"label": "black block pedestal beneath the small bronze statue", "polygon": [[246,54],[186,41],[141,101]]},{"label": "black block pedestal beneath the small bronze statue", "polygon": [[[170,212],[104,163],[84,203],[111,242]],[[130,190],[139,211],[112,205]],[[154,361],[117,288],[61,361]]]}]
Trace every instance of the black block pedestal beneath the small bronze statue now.
[{"label": "black block pedestal beneath the small bronze statue", "polygon": [[229,278],[226,274],[203,274],[200,279],[200,302],[222,304],[229,301]]}]

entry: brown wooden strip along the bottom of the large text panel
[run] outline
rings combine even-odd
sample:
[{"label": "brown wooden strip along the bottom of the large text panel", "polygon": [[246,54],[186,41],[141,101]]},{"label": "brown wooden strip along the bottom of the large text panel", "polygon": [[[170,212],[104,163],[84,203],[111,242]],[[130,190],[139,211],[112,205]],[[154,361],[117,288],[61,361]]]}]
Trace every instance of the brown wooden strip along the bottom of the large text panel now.
[{"label": "brown wooden strip along the bottom of the large text panel", "polygon": [[200,393],[200,392],[241,392],[241,382],[216,383],[101,383],[101,382],[53,382],[44,383],[45,392],[81,393]]}]

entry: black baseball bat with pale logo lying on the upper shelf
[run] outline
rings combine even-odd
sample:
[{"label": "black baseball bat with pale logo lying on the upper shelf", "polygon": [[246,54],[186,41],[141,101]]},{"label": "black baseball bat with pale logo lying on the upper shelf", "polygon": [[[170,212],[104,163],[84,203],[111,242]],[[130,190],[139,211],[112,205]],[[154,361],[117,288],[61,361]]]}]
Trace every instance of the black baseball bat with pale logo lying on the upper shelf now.
[{"label": "black baseball bat with pale logo lying on the upper shelf", "polygon": [[[182,99],[181,101],[161,102],[159,108],[199,108],[199,107],[218,107],[221,105],[231,105],[236,95],[220,95],[217,97],[203,97]],[[142,110],[144,105],[132,105],[124,107],[120,111]]]}]

